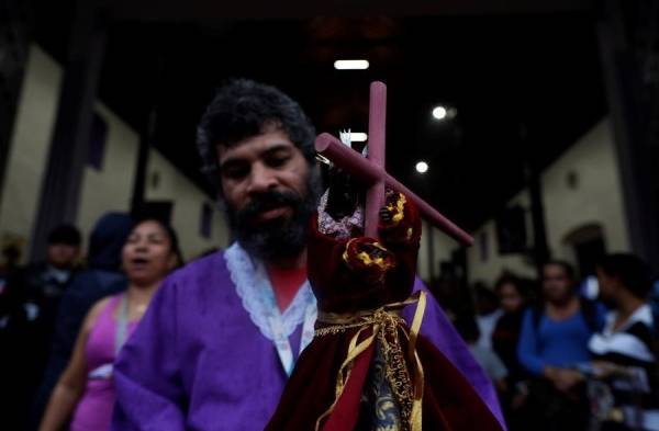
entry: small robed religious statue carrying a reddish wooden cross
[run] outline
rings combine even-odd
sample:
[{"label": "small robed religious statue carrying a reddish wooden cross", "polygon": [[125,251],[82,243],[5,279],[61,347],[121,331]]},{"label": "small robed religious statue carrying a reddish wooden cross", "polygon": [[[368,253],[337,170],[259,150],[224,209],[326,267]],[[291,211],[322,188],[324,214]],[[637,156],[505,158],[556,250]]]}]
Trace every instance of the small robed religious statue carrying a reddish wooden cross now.
[{"label": "small robed religious statue carrying a reddish wooden cross", "polygon": [[[384,91],[371,86],[368,159],[344,136],[316,139],[332,167],[308,245],[315,334],[266,430],[504,429],[420,333],[426,293],[413,285],[421,213],[462,242],[471,239],[384,171]],[[401,316],[409,305],[416,306],[410,325]]]}]

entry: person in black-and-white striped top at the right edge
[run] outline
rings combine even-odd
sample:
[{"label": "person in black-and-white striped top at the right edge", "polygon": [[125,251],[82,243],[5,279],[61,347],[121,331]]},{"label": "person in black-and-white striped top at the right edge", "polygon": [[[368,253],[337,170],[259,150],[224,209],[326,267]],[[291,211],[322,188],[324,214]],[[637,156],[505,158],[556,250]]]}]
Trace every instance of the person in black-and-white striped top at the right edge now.
[{"label": "person in black-and-white striped top at the right edge", "polygon": [[594,375],[611,388],[614,408],[603,430],[659,430],[657,322],[648,304],[648,265],[633,254],[608,254],[597,269],[600,297],[611,311],[589,348]]}]

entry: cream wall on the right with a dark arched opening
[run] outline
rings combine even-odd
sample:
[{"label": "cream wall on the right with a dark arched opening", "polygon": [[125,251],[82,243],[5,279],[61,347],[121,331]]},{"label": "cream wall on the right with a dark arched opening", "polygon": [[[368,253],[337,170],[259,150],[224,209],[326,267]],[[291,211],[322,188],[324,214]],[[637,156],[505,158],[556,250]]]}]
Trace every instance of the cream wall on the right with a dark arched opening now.
[{"label": "cream wall on the right with a dark arched opening", "polygon": [[[629,251],[621,174],[617,165],[613,132],[608,118],[599,122],[541,174],[543,205],[547,242],[554,258],[576,263],[572,247],[566,237],[589,224],[603,227],[606,251]],[[568,178],[576,175],[576,186]],[[526,190],[520,192],[510,205],[521,204],[529,211]],[[532,240],[532,224],[527,213],[527,237]],[[489,256],[481,259],[479,236],[485,232]],[[488,220],[473,234],[474,247],[467,253],[470,282],[493,283],[503,270],[520,275],[535,274],[533,264],[521,254],[500,256],[494,219]],[[529,243],[530,246],[530,243]]]}]

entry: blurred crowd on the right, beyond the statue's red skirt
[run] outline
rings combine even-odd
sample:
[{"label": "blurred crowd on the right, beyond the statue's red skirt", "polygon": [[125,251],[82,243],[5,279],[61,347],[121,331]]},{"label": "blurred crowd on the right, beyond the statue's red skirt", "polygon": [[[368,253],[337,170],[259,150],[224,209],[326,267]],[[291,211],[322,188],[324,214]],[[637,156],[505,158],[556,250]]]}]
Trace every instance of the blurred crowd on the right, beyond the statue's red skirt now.
[{"label": "blurred crowd on the right, beyond the statue's red skirt", "polygon": [[504,272],[471,298],[436,291],[510,430],[659,430],[656,286],[641,259],[616,253],[583,280],[550,261],[539,280]]}]

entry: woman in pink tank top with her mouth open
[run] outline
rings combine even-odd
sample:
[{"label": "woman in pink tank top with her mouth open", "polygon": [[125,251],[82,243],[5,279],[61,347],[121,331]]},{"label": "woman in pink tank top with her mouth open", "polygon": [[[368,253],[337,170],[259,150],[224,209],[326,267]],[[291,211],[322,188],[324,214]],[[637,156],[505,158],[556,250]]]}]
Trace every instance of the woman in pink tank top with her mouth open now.
[{"label": "woman in pink tank top with her mouth open", "polygon": [[40,431],[58,431],[71,415],[71,431],[110,429],[113,363],[165,276],[180,263],[175,231],[154,219],[138,223],[123,247],[122,262],[127,290],[101,299],[85,318]]}]

